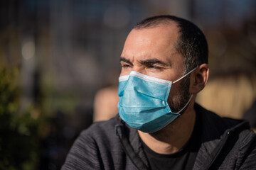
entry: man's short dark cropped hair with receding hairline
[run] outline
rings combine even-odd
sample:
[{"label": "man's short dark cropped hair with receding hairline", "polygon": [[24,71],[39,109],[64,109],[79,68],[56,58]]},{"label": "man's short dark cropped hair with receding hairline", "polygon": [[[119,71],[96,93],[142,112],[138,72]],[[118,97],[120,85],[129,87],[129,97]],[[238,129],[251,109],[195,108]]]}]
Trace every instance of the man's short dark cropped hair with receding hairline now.
[{"label": "man's short dark cropped hair with receding hairline", "polygon": [[193,23],[176,16],[154,16],[137,23],[134,29],[154,28],[174,21],[179,28],[176,50],[183,55],[184,72],[208,63],[208,44],[203,32]]}]

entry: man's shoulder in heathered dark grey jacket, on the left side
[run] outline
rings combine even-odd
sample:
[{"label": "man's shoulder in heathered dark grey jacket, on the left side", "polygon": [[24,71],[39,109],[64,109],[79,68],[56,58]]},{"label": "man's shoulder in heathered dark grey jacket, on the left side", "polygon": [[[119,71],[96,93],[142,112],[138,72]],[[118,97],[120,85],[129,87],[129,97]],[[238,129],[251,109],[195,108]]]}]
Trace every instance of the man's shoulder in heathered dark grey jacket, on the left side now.
[{"label": "man's shoulder in heathered dark grey jacket, on the left side", "polygon": [[62,169],[102,169],[108,157],[119,155],[121,146],[115,135],[117,118],[93,123],[75,140]]}]

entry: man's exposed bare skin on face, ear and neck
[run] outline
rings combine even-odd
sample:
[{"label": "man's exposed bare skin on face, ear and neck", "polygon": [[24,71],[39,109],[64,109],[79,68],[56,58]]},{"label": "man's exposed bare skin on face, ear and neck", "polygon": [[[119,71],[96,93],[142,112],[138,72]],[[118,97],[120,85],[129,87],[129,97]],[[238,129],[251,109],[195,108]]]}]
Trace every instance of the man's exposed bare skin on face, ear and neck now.
[{"label": "man's exposed bare skin on face, ear and neck", "polygon": [[[155,28],[132,30],[124,43],[120,63],[120,76],[129,75],[131,71],[140,72],[151,77],[175,81],[183,76],[183,56],[176,51],[178,39],[176,23],[161,24]],[[186,144],[193,132],[196,112],[193,109],[196,94],[203,89],[208,80],[208,65],[201,64],[191,73],[189,94],[194,94],[186,111],[174,122],[158,132],[149,134],[139,131],[143,142],[154,152],[171,154]],[[178,85],[173,84],[169,98],[174,103],[179,100]]]}]

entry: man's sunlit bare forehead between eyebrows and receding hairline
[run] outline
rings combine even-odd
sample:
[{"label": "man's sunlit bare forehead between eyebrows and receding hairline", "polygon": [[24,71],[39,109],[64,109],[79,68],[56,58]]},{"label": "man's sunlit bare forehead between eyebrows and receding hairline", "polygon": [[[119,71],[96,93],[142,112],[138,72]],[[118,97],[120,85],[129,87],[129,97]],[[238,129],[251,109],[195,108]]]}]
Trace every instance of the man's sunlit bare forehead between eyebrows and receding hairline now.
[{"label": "man's sunlit bare forehead between eyebrows and receding hairline", "polygon": [[176,23],[154,28],[133,29],[124,43],[122,57],[155,57],[164,59],[176,51],[179,28]]}]

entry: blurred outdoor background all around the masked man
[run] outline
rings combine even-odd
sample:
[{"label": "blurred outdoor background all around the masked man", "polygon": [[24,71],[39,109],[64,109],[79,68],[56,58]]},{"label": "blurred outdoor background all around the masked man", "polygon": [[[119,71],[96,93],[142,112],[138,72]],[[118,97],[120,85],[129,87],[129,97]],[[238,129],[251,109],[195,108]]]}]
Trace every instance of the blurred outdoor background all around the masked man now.
[{"label": "blurred outdoor background all around the masked man", "polygon": [[1,1],[0,169],[60,169],[81,130],[116,114],[124,40],[154,15],[206,34],[210,79],[198,103],[255,123],[255,9],[255,0]]}]

